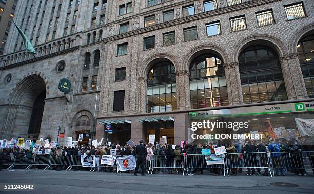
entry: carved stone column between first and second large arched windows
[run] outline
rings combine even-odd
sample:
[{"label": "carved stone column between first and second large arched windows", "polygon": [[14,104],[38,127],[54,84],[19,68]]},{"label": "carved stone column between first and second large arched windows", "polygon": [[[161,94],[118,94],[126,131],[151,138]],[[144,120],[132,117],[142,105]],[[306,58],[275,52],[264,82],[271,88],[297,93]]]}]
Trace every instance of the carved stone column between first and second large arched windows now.
[{"label": "carved stone column between first and second large arched windows", "polygon": [[180,70],[175,72],[176,76],[176,96],[177,109],[187,110],[191,108],[190,101],[190,77],[187,70]]}]

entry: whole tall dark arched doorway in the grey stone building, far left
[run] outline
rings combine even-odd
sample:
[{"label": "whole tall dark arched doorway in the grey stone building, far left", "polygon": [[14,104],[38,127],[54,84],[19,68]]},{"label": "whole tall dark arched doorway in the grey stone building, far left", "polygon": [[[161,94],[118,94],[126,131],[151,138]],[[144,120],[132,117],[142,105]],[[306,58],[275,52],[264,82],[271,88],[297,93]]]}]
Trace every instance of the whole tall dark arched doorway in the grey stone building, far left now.
[{"label": "whole tall dark arched doorway in the grey stone building, far left", "polygon": [[3,125],[3,138],[38,139],[46,93],[46,83],[37,74],[25,77],[16,85]]}]

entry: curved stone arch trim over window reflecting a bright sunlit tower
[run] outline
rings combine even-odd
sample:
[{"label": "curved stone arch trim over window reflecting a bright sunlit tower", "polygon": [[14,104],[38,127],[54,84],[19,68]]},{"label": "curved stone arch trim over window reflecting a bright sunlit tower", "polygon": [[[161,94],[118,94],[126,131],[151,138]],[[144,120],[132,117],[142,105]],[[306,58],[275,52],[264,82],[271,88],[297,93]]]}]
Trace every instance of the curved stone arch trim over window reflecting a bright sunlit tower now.
[{"label": "curved stone arch trim over window reflecting a bright sunlit tower", "polygon": [[222,60],[224,63],[227,63],[230,61],[226,50],[224,50],[223,48],[221,48],[217,45],[206,44],[206,45],[200,45],[200,46],[194,47],[185,54],[185,57],[183,59],[182,69],[189,71],[190,64],[191,64],[192,60],[195,58],[195,54],[197,54],[203,50],[214,51],[215,53],[217,53],[218,55],[220,55],[222,57]]}]

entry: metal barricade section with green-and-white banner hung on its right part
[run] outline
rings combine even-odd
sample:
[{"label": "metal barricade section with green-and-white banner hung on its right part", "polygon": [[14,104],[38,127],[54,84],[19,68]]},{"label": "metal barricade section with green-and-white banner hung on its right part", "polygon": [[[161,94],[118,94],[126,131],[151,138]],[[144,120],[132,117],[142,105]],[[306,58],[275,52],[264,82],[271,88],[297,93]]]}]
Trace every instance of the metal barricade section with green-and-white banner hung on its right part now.
[{"label": "metal barricade section with green-and-white banner hung on its right part", "polygon": [[223,169],[225,176],[225,162],[223,164],[211,164],[207,165],[206,155],[203,154],[188,154],[185,157],[185,169],[186,175],[189,169]]}]

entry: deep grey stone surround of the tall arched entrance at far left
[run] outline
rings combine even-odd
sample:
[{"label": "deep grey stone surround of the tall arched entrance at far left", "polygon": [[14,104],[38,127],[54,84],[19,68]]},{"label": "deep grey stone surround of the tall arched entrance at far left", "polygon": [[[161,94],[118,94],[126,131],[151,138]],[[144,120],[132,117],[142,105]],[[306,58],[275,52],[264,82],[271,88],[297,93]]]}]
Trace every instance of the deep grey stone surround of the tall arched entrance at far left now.
[{"label": "deep grey stone surround of the tall arched entrance at far left", "polygon": [[[48,80],[38,71],[23,76],[9,94],[6,118],[2,126],[2,138],[11,136],[25,137],[28,134],[28,125],[35,99],[42,92],[49,94]],[[13,129],[13,130],[12,130]]]}]

